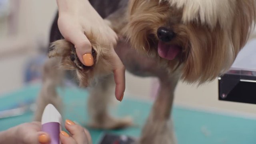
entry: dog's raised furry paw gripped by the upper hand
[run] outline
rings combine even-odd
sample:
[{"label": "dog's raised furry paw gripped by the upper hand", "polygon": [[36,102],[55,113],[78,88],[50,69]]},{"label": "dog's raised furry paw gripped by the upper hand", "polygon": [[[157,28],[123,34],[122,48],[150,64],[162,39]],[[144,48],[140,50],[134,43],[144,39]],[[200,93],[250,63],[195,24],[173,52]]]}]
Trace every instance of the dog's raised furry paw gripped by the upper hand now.
[{"label": "dog's raised furry paw gripped by the upper hand", "polygon": [[[61,57],[60,68],[65,70],[76,70],[80,86],[93,86],[98,78],[112,74],[112,63],[109,56],[108,46],[96,43],[93,35],[87,35],[92,48],[96,51],[94,56],[94,66],[84,66],[76,55],[74,45],[66,40],[57,40],[51,44],[49,58]],[[73,56],[73,58],[71,58]],[[72,60],[73,59],[73,60]]]}]

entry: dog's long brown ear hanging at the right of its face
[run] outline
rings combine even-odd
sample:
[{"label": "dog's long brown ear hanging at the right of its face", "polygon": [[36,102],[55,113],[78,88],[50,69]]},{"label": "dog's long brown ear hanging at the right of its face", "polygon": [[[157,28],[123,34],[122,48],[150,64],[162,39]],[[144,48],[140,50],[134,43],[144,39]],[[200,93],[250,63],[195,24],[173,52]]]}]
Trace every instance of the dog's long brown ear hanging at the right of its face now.
[{"label": "dog's long brown ear hanging at the right of its face", "polygon": [[230,6],[233,6],[231,21],[218,22],[213,29],[196,23],[186,25],[189,38],[183,70],[186,81],[203,83],[224,74],[248,41],[255,25],[256,1],[237,0]]}]

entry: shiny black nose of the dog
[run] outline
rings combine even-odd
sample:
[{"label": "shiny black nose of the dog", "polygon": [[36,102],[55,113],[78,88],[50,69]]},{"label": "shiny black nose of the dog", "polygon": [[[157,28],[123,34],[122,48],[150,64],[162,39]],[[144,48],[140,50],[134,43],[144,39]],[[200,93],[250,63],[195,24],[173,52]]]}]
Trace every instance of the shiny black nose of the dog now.
[{"label": "shiny black nose of the dog", "polygon": [[163,42],[170,42],[175,37],[175,34],[168,28],[160,27],[157,30],[157,36]]}]

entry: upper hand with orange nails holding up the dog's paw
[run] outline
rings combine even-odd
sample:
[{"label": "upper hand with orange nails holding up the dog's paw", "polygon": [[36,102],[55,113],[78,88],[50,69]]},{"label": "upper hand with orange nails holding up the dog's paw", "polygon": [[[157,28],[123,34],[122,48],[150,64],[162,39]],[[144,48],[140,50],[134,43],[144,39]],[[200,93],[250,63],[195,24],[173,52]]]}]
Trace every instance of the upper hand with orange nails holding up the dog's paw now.
[{"label": "upper hand with orange nails holding up the dog's paw", "polygon": [[76,54],[84,65],[92,66],[94,64],[92,45],[85,34],[94,34],[96,41],[100,41],[102,37],[107,38],[104,45],[111,49],[109,55],[112,57],[112,69],[116,82],[115,95],[117,100],[121,101],[125,90],[125,68],[114,50],[118,39],[116,33],[104,22],[88,0],[57,0],[57,4],[60,33],[66,40],[74,44]]}]

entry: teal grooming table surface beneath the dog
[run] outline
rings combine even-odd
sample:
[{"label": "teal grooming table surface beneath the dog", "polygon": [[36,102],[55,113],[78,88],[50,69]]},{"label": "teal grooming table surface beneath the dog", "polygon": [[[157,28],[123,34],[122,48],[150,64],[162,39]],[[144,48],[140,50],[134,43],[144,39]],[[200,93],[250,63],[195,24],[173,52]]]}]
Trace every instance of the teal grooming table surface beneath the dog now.
[{"label": "teal grooming table surface beneath the dog", "polygon": [[[40,85],[26,86],[21,90],[0,96],[0,110],[28,99],[35,99]],[[70,119],[86,126],[88,93],[78,88],[59,89],[64,101],[63,119]],[[100,104],[99,104],[100,105]],[[89,129],[94,144],[98,144],[105,132],[127,134],[138,137],[152,103],[124,98],[111,109],[115,116],[132,116],[135,126],[123,130]],[[24,122],[30,122],[33,114],[0,119],[0,131]],[[174,129],[179,144],[256,144],[256,121],[253,119],[224,116],[174,107],[172,112]]]}]

